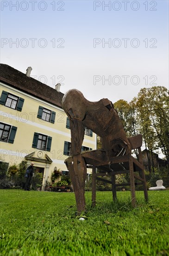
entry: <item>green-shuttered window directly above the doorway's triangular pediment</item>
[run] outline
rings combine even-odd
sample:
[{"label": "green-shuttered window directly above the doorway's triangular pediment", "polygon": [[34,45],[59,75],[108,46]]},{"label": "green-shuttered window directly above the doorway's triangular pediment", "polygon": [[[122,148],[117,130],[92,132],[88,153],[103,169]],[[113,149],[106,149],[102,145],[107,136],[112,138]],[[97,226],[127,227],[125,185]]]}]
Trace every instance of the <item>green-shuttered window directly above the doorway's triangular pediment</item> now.
[{"label": "green-shuttered window directly above the doorway's triangular pediment", "polygon": [[32,148],[50,151],[51,141],[52,137],[50,136],[34,133]]}]

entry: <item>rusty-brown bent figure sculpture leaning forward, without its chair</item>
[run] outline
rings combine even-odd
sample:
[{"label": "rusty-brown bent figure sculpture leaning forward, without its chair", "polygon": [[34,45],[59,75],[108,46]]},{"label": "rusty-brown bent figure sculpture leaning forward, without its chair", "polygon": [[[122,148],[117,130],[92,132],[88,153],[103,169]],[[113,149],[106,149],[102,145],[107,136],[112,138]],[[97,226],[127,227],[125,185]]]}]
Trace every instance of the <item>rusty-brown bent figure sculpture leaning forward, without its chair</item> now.
[{"label": "rusty-brown bent figure sculpture leaning forward, without its chair", "polygon": [[[91,102],[76,90],[63,96],[62,107],[69,117],[71,156],[65,160],[75,191],[77,212],[85,210],[85,180],[87,164],[99,166],[113,156],[130,155],[131,146],[113,103],[108,99]],[[102,149],[81,152],[84,128],[100,136]]]}]

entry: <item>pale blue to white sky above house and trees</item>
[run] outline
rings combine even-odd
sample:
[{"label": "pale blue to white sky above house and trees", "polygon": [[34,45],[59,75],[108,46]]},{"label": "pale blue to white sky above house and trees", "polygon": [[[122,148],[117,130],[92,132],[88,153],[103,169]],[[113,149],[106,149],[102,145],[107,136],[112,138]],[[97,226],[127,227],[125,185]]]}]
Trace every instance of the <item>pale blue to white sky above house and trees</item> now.
[{"label": "pale blue to white sky above house and trees", "polygon": [[168,0],[1,0],[0,63],[89,101],[169,88]]}]

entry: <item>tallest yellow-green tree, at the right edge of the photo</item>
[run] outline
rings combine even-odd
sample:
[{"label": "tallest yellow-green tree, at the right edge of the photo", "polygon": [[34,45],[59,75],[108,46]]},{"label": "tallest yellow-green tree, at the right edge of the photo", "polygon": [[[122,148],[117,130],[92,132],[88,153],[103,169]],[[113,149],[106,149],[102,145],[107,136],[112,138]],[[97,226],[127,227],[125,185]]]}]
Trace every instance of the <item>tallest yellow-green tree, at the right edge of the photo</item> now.
[{"label": "tallest yellow-green tree, at the right edge of the photo", "polygon": [[145,147],[150,152],[161,148],[169,164],[169,91],[161,86],[143,88],[134,100]]}]

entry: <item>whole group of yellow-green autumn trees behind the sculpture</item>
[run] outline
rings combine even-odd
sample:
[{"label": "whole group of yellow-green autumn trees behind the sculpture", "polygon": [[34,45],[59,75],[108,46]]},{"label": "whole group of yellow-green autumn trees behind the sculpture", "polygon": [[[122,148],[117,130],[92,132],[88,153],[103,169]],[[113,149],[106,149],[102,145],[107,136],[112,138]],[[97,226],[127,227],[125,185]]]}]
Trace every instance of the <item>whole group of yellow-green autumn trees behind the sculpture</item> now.
[{"label": "whole group of yellow-green autumn trees behind the sculpture", "polygon": [[169,90],[163,86],[142,88],[130,103],[119,100],[114,108],[128,137],[143,135],[143,144],[150,152],[147,155],[149,172],[156,168],[151,158],[158,150],[165,155],[169,168]]}]

